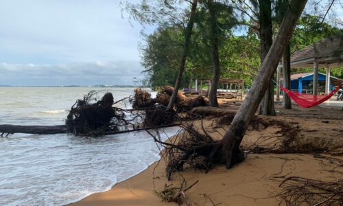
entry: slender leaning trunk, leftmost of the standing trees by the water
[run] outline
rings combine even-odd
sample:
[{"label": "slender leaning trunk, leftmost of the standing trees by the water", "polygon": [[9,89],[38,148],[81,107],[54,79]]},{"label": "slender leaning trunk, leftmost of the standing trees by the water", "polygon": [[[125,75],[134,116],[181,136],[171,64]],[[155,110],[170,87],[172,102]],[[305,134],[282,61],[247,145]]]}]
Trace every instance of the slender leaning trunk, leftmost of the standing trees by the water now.
[{"label": "slender leaning trunk, leftmost of the standing trees by the water", "polygon": [[180,88],[180,84],[182,80],[182,75],[185,71],[185,65],[186,65],[187,55],[189,52],[189,45],[191,43],[191,34],[193,31],[193,24],[194,24],[194,19],[196,16],[197,5],[198,5],[198,0],[193,0],[192,7],[191,7],[191,16],[189,17],[189,22],[187,23],[187,27],[185,30],[185,43],[184,43],[185,45],[183,47],[183,54],[182,54],[182,58],[180,62],[180,69],[178,70],[178,77],[176,78],[174,91],[169,100],[167,110],[170,110],[171,108],[173,108],[175,104],[176,95],[178,94],[178,89]]}]

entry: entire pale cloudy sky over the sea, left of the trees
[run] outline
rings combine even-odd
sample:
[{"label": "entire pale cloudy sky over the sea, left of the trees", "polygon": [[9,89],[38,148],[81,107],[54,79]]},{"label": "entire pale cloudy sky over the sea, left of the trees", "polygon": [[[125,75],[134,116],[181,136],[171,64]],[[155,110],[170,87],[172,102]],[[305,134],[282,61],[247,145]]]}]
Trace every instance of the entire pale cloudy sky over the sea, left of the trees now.
[{"label": "entire pale cloudy sky over the sea, left of the trees", "polygon": [[[132,84],[141,26],[119,0],[1,0],[0,84]],[[125,18],[126,17],[126,18]]]}]

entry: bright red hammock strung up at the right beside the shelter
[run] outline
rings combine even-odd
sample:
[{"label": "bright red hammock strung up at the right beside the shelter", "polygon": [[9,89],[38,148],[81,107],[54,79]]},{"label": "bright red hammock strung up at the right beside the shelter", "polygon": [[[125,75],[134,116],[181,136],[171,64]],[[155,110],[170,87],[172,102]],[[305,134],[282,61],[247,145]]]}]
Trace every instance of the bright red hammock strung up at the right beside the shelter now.
[{"label": "bright red hammock strung up at the right beside the shelter", "polygon": [[338,91],[338,89],[340,89],[340,87],[342,86],[343,86],[343,83],[340,84],[338,87],[336,87],[335,90],[325,95],[309,95],[305,93],[289,91],[288,89],[283,88],[281,85],[280,85],[280,89],[285,91],[285,93],[287,93],[289,98],[294,100],[294,102],[296,102],[296,104],[298,104],[299,106],[309,108],[312,106],[317,106],[318,104],[322,104],[322,102],[329,100],[332,97],[332,95],[336,91]]}]

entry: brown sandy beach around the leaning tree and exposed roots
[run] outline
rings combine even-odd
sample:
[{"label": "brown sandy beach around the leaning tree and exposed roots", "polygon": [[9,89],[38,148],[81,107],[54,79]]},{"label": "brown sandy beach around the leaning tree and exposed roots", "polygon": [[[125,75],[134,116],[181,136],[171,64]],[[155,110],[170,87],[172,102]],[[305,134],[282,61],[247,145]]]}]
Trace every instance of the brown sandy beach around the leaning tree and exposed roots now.
[{"label": "brown sandy beach around the leaning tree and exposed roots", "polygon": [[[223,102],[222,107],[237,109],[239,102]],[[165,177],[165,160],[150,165],[147,170],[126,181],[117,183],[107,192],[92,194],[71,205],[177,205],[163,203],[156,195],[165,185],[179,187],[181,175],[187,185],[196,183],[187,191],[192,205],[278,205],[276,196],[281,190],[279,184],[287,176],[302,176],[321,181],[342,179],[343,117],[338,108],[304,109],[294,106],[284,111],[276,105],[278,116],[261,117],[277,119],[298,128],[298,148],[325,148],[316,152],[297,154],[248,154],[245,161],[231,170],[217,165],[207,174],[200,170],[187,170],[174,174],[172,181]],[[206,117],[205,125],[211,136],[221,138],[224,128],[215,128],[217,118]],[[270,140],[281,130],[269,126],[263,130],[248,130],[243,145],[274,144]],[[261,141],[262,137],[262,141]],[[269,140],[268,140],[269,139]],[[268,142],[269,141],[269,142]],[[257,143],[258,142],[258,143]]]}]

